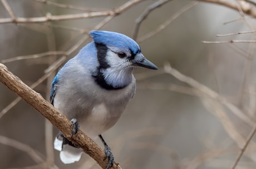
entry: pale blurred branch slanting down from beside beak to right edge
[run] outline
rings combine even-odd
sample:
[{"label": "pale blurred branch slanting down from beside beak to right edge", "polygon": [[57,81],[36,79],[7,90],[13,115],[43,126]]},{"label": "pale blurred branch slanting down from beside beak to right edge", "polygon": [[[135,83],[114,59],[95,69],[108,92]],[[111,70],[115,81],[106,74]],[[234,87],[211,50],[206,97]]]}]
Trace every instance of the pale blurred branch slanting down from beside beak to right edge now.
[{"label": "pale blurred branch slanting down from beside beak to right edge", "polygon": [[238,109],[237,106],[230,103],[227,99],[223,98],[215,91],[213,91],[210,88],[208,88],[207,86],[199,83],[198,81],[194,80],[193,78],[190,78],[189,76],[181,74],[178,70],[172,68],[170,66],[170,64],[165,64],[164,69],[165,69],[166,73],[173,75],[176,79],[193,86],[194,88],[198,89],[199,91],[206,94],[210,98],[217,100],[217,101],[219,101],[219,103],[228,107],[228,109],[231,112],[233,112],[234,115],[239,117],[239,119],[243,120],[249,126],[254,126],[255,122],[252,119],[247,117],[241,110]]}]

